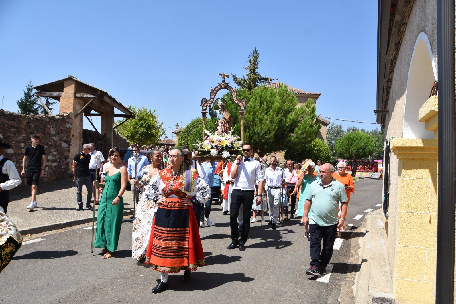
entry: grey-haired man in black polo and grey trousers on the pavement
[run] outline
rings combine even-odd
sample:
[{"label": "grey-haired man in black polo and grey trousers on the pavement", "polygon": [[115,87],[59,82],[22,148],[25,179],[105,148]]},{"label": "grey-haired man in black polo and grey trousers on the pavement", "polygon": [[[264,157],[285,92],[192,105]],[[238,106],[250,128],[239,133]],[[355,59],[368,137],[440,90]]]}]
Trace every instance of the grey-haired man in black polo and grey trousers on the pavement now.
[{"label": "grey-haired man in black polo and grey trousers on the pavement", "polygon": [[88,210],[93,210],[93,207],[90,205],[92,200],[92,178],[90,177],[90,171],[88,170],[89,164],[90,144],[84,144],[83,151],[76,154],[73,158],[73,182],[76,183],[76,201],[79,205],[79,211],[84,211],[82,198],[83,185],[86,185],[87,189],[86,208]]}]

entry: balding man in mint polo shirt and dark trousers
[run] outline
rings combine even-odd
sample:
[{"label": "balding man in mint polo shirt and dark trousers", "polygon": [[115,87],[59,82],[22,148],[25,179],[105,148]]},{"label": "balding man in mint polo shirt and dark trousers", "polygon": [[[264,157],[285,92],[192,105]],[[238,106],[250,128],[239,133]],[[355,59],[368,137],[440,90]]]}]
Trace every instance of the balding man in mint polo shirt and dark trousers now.
[{"label": "balding man in mint polo shirt and dark trousers", "polygon": [[[347,193],[344,185],[332,178],[334,166],[325,163],[320,166],[320,179],[311,183],[304,204],[304,225],[309,225],[311,243],[311,267],[306,274],[319,276],[326,274],[326,265],[332,257],[332,247],[336,240],[336,228],[342,227],[347,215]],[[341,218],[338,218],[339,202],[342,203]],[[312,206],[312,213],[307,217]],[[323,239],[323,250],[321,250]]]}]

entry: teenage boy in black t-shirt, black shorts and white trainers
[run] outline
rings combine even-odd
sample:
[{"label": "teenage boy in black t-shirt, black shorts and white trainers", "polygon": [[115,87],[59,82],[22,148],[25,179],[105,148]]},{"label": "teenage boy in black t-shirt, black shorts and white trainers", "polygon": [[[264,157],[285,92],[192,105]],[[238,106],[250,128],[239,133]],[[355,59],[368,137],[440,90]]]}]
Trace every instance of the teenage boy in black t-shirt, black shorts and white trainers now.
[{"label": "teenage boy in black t-shirt, black shorts and white trainers", "polygon": [[38,134],[31,135],[31,145],[28,145],[24,152],[24,158],[22,158],[22,172],[21,175],[25,175],[25,164],[27,159],[27,184],[31,189],[31,203],[27,209],[33,210],[38,206],[36,203],[36,192],[38,190],[38,184],[40,183],[40,177],[44,175],[44,169],[46,167],[46,152],[44,147],[39,144],[40,136]]}]

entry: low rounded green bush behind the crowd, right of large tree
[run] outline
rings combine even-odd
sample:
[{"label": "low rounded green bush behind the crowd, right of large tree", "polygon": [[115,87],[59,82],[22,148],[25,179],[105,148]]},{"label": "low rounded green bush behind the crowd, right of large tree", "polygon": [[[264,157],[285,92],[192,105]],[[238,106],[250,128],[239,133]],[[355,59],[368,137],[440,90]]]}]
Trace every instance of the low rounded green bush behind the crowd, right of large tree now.
[{"label": "low rounded green bush behind the crowd, right of large tree", "polygon": [[285,159],[301,162],[306,158],[311,158],[314,162],[317,159],[320,159],[321,163],[332,162],[332,152],[326,142],[320,138],[302,147],[290,147],[285,151]]}]

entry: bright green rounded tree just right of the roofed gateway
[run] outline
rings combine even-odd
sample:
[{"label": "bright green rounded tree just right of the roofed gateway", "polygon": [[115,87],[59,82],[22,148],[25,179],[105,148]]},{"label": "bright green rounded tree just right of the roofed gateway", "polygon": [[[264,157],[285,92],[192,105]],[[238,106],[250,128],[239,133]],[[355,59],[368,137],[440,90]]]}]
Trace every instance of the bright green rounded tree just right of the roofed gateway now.
[{"label": "bright green rounded tree just right of the roofed gateway", "polygon": [[[117,132],[130,142],[140,146],[158,142],[165,131],[162,128],[163,122],[158,121],[155,110],[148,110],[144,106],[136,109],[132,105],[129,105],[128,108],[135,114],[135,118],[125,121],[117,128]],[[116,124],[121,122],[116,121]]]}]

